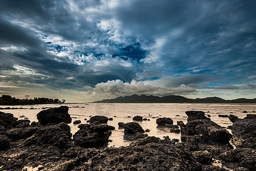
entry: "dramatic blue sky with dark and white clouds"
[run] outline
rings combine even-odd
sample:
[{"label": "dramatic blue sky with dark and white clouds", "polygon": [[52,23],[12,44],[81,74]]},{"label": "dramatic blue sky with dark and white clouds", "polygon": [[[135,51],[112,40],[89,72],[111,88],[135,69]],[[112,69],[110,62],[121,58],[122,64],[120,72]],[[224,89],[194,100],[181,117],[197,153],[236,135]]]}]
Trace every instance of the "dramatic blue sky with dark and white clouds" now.
[{"label": "dramatic blue sky with dark and white clouds", "polygon": [[256,96],[256,1],[0,1],[0,95]]}]

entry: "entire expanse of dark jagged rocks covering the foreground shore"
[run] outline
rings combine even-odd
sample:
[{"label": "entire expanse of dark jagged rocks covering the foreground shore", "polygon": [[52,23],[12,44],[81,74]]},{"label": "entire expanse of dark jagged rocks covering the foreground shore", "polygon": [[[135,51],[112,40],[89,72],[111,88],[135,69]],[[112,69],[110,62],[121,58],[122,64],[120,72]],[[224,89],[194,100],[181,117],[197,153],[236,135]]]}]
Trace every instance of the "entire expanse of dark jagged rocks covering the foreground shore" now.
[{"label": "entire expanse of dark jagged rocks covering the foreground shore", "polygon": [[[170,118],[157,124],[181,132],[182,143],[147,136],[136,122],[118,123],[135,134],[129,146],[106,147],[115,128],[91,117],[73,135],[68,107],[37,115],[38,123],[18,120],[0,112],[0,170],[255,170],[256,115],[239,119],[230,115],[232,135],[205,116],[187,111],[187,123],[173,125]],[[137,117],[135,121],[142,118]],[[229,142],[235,145],[232,146]]]}]

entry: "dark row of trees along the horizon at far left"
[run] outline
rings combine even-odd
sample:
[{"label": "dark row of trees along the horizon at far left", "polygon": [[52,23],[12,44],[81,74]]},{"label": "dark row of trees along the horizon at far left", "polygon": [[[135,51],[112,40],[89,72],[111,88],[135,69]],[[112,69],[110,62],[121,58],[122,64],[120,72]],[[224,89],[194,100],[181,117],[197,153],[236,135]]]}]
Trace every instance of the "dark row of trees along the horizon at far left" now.
[{"label": "dark row of trees along the horizon at far left", "polygon": [[29,95],[25,95],[25,99],[17,99],[10,95],[2,95],[0,97],[0,104],[2,105],[15,105],[15,104],[59,104],[65,103],[66,100],[50,99],[46,97],[34,97],[29,99]]}]

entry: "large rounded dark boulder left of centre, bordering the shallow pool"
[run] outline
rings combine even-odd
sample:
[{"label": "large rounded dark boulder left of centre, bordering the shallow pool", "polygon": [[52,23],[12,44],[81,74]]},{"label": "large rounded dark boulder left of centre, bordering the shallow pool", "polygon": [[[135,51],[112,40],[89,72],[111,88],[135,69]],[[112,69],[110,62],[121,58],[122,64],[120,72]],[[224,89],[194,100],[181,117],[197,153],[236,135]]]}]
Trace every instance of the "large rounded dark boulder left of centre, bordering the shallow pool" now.
[{"label": "large rounded dark boulder left of centre, bordering the shallow pool", "polygon": [[115,129],[110,125],[103,125],[95,121],[90,124],[80,124],[80,128],[73,136],[75,144],[91,148],[105,146],[109,142],[111,131]]}]

